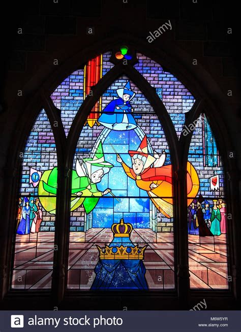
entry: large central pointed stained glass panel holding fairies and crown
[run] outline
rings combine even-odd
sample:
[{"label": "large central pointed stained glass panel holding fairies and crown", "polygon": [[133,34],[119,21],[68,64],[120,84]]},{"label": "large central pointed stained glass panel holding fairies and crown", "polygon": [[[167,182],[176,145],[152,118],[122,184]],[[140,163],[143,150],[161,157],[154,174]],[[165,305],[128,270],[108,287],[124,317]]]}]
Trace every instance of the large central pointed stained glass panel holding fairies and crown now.
[{"label": "large central pointed stained glass panel holding fairies and crown", "polygon": [[[174,289],[172,169],[163,127],[126,76],[101,98],[98,123],[82,128],[74,157],[68,287]],[[135,246],[140,253],[131,251]],[[100,259],[100,250],[109,253]]]}]

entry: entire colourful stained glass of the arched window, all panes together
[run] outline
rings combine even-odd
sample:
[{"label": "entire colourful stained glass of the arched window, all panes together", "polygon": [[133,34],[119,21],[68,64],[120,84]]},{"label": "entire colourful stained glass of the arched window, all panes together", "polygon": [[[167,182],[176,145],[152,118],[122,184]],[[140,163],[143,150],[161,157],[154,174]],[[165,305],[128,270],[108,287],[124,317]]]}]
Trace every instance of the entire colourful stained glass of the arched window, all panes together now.
[{"label": "entire colourful stained glass of the arched window, all panes together", "polygon": [[[127,47],[120,50],[116,59],[131,57]],[[110,56],[106,52],[89,60],[52,93],[66,136],[85,97],[112,69]],[[179,138],[194,97],[160,64],[140,53],[136,58],[135,70],[156,89]],[[173,197],[164,129],[142,91],[125,75],[89,113],[70,172],[69,289],[175,288],[173,202],[178,197]],[[12,287],[50,288],[58,186],[55,143],[44,110],[22,158]],[[192,287],[227,287],[223,183],[216,141],[202,115],[187,162]]]}]

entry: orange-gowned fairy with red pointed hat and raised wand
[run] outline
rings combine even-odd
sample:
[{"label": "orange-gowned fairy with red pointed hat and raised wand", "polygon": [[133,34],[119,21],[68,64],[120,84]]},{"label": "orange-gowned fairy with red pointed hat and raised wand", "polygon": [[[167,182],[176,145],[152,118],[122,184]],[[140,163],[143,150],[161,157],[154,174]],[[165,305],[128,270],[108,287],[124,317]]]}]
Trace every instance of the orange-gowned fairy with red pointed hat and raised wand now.
[{"label": "orange-gowned fairy with red pointed hat and raised wand", "polygon": [[[146,190],[157,209],[166,217],[173,217],[173,190],[172,190],[172,165],[163,165],[162,155],[157,157],[148,153],[147,138],[143,138],[137,151],[129,151],[132,158],[130,168],[122,158],[117,155],[116,160],[136,185]],[[193,201],[199,189],[199,179],[193,165],[187,164],[188,204]]]}]

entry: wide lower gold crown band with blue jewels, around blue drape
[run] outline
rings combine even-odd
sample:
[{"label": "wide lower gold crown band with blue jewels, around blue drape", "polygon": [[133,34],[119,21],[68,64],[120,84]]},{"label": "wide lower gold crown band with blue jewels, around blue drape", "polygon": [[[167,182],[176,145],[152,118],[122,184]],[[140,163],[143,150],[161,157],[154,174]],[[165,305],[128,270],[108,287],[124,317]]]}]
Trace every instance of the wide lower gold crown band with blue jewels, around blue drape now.
[{"label": "wide lower gold crown band with blue jewels, around blue drape", "polygon": [[142,248],[136,245],[135,247],[99,247],[96,245],[100,252],[100,259],[143,259],[144,251],[147,246]]}]

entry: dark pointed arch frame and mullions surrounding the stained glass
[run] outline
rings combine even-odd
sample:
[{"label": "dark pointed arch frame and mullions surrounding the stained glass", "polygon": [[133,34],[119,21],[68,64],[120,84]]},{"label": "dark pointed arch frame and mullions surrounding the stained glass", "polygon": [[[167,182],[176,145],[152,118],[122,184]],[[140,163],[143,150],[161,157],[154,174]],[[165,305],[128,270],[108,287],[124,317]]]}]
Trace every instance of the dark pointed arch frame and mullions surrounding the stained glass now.
[{"label": "dark pointed arch frame and mullions surrounding the stained glass", "polygon": [[[85,62],[89,58],[93,58],[97,53],[103,53],[112,49],[116,45],[129,44],[134,49],[138,49],[139,52],[147,55],[154,59],[158,63],[162,63],[164,68],[170,68],[171,73],[176,75],[188,88],[191,87],[192,93],[196,97],[196,102],[189,112],[189,116],[186,118],[185,124],[193,122],[198,118],[200,113],[205,110],[205,114],[210,120],[210,125],[214,131],[217,139],[220,154],[223,158],[224,169],[227,174],[230,175],[229,181],[226,177],[226,195],[230,199],[228,200],[227,210],[232,214],[232,220],[228,225],[228,243],[230,252],[230,267],[232,268],[233,282],[230,291],[190,291],[189,288],[189,272],[188,272],[188,232],[187,232],[187,200],[186,200],[186,163],[189,146],[191,142],[192,133],[186,138],[184,135],[180,136],[179,141],[177,140],[176,133],[174,131],[173,124],[168,123],[165,112],[166,109],[159,97],[156,95],[156,91],[150,88],[145,79],[135,71],[132,67],[123,68],[122,65],[115,65],[110,71],[111,73],[106,74],[102,78],[102,84],[97,84],[93,97],[87,97],[77,116],[71,126],[69,136],[66,139],[64,134],[63,125],[61,122],[61,116],[59,110],[53,105],[50,94],[54,88],[62,82],[68,75],[70,75],[76,68],[83,68]],[[93,47],[85,49],[78,54],[75,54],[70,59],[65,61],[58,69],[55,70],[49,77],[46,77],[45,83],[42,84],[42,88],[36,90],[34,97],[29,101],[27,106],[22,109],[18,121],[18,130],[15,132],[15,136],[12,138],[11,153],[8,156],[8,168],[5,169],[5,187],[6,189],[6,209],[4,210],[3,220],[1,224],[2,237],[4,239],[3,252],[0,261],[0,273],[1,273],[1,297],[5,304],[12,303],[12,300],[22,301],[25,296],[32,298],[33,305],[35,303],[35,296],[38,295],[38,304],[42,305],[48,301],[48,305],[61,306],[63,309],[70,308],[70,304],[74,304],[74,308],[79,309],[95,309],[96,302],[99,300],[103,301],[103,292],[91,292],[90,293],[76,293],[73,291],[66,290],[66,278],[67,278],[67,256],[68,256],[68,235],[69,235],[69,203],[70,200],[70,177],[68,177],[69,170],[71,168],[71,162],[73,160],[73,153],[76,142],[77,134],[73,132],[77,128],[80,132],[87,113],[94,106],[98,99],[98,96],[103,93],[104,86],[108,87],[108,82],[112,83],[114,78],[121,74],[126,74],[132,79],[137,86],[142,90],[145,96],[149,99],[150,104],[153,106],[157,116],[159,117],[166,134],[166,138],[169,144],[172,163],[174,167],[175,185],[174,185],[174,196],[178,195],[178,202],[174,202],[174,213],[175,213],[175,227],[174,236],[175,244],[178,250],[175,250],[175,263],[176,263],[176,290],[175,291],[155,291],[147,293],[138,292],[136,296],[133,296],[125,292],[115,292],[114,294],[105,294],[106,306],[105,309],[113,309],[113,305],[108,303],[110,298],[116,301],[116,309],[122,307],[125,304],[129,304],[129,308],[141,309],[141,305],[138,308],[135,305],[135,300],[138,298],[138,302],[141,303],[143,300],[146,306],[150,309],[178,309],[188,308],[190,303],[194,301],[196,303],[198,298],[222,297],[228,301],[232,299],[237,300],[240,298],[240,258],[237,252],[238,234],[240,233],[240,224],[235,222],[238,216],[238,208],[233,202],[234,197],[238,197],[238,188],[236,186],[237,181],[237,166],[234,159],[229,159],[227,151],[233,150],[232,142],[229,139],[228,132],[224,125],[224,121],[220,116],[219,111],[223,112],[227,110],[225,103],[223,103],[222,95],[218,89],[217,83],[214,82],[206,72],[203,75],[201,73],[195,73],[187,63],[188,57],[185,57],[184,52],[178,49],[178,52],[173,52],[173,44],[169,44],[163,41],[163,49],[157,49],[154,46],[150,48],[150,45],[146,45],[144,42],[119,35],[114,38],[107,39],[96,43]],[[165,50],[165,51],[164,51]],[[178,58],[179,56],[179,58]],[[201,69],[202,70],[202,69]],[[141,78],[140,78],[141,76]],[[198,76],[198,77],[197,77]],[[189,79],[187,79],[189,77]],[[144,82],[145,81],[145,82]],[[40,80],[36,80],[37,87],[40,85]],[[42,82],[41,82],[42,83]],[[204,83],[204,84],[203,84]],[[212,85],[213,84],[213,85]],[[208,90],[209,89],[209,90]],[[212,94],[213,93],[213,94]],[[16,110],[17,103],[15,105]],[[9,252],[11,252],[11,239],[14,232],[14,222],[8,222],[14,220],[15,211],[12,211],[12,207],[15,203],[15,197],[17,194],[17,183],[20,176],[20,160],[18,158],[19,151],[22,151],[25,146],[28,133],[34,123],[34,120],[39,111],[44,107],[46,114],[49,118],[53,135],[56,144],[57,151],[57,162],[58,162],[58,192],[57,192],[57,207],[56,207],[56,221],[55,221],[55,244],[61,248],[54,253],[54,268],[52,276],[52,290],[51,291],[9,291],[9,277],[10,277],[10,265],[9,265]],[[162,113],[163,112],[163,113]],[[29,116],[31,114],[31,116]],[[169,115],[168,115],[169,116]],[[57,121],[59,126],[55,127],[54,122]],[[17,144],[16,144],[17,142]],[[68,190],[66,190],[68,188]],[[66,202],[67,204],[62,204]],[[64,217],[63,217],[64,216]],[[76,307],[79,300],[84,304]],[[154,301],[155,300],[155,301]],[[168,304],[168,306],[160,305],[160,300]],[[112,302],[113,303],[113,302]],[[12,309],[12,308],[11,308]],[[28,308],[29,309],[29,308]],[[144,308],[143,308],[144,309]]]}]

